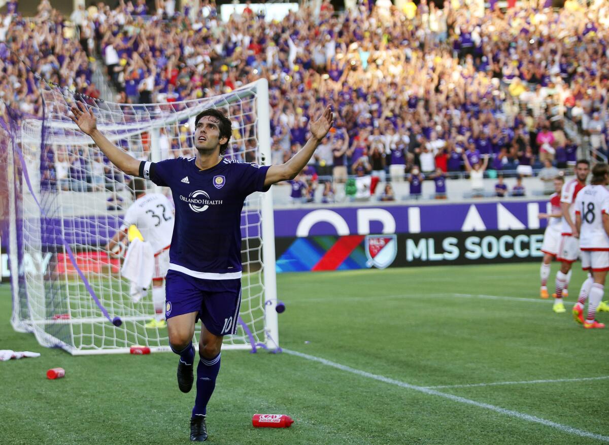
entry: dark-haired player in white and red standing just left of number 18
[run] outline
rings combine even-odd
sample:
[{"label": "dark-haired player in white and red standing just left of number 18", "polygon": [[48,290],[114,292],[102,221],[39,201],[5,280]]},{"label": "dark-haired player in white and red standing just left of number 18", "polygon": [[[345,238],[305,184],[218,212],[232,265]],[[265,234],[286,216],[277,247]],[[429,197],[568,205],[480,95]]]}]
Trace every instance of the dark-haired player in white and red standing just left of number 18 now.
[{"label": "dark-haired player in white and red standing just left of number 18", "polygon": [[[563,304],[563,290],[569,286],[571,279],[571,265],[579,256],[579,232],[575,226],[574,203],[577,194],[586,185],[586,178],[590,173],[590,162],[579,159],[575,167],[576,178],[563,186],[560,195],[560,207],[563,213],[560,247],[556,259],[561,262],[560,270],[556,273],[556,293],[552,309],[557,314],[565,312]],[[566,296],[566,295],[565,295]]]}]

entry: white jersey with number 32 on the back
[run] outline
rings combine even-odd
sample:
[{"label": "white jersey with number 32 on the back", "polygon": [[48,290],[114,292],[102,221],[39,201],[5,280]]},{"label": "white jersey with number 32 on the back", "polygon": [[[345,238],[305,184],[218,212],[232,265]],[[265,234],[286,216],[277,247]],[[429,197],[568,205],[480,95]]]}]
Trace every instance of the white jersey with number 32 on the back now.
[{"label": "white jersey with number 32 on the back", "polygon": [[144,241],[150,242],[152,250],[157,253],[171,244],[174,221],[174,207],[167,197],[160,193],[147,193],[127,209],[121,230],[135,224]]}]

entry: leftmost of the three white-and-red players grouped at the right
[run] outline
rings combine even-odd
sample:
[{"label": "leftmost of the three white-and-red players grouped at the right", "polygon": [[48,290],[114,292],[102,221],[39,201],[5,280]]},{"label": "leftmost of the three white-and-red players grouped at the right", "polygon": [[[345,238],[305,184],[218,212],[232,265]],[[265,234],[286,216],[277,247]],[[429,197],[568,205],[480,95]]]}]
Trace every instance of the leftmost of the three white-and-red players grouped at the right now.
[{"label": "leftmost of the three white-and-red players grouped at the right", "polygon": [[541,277],[541,298],[547,298],[547,277],[550,276],[550,267],[552,258],[558,253],[561,239],[561,223],[562,211],[560,209],[560,191],[565,184],[565,178],[558,176],[554,179],[555,193],[550,196],[549,213],[540,213],[539,219],[547,219],[546,231],[543,234],[543,244],[541,251],[543,252],[543,260],[541,261],[540,277]]}]

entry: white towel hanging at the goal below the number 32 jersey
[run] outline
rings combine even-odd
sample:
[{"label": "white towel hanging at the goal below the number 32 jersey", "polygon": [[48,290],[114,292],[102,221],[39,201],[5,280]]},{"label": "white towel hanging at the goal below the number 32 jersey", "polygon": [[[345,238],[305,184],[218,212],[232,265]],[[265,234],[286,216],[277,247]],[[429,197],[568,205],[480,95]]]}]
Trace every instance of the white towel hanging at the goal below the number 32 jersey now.
[{"label": "white towel hanging at the goal below the number 32 jersey", "polygon": [[125,262],[122,264],[122,276],[131,281],[131,298],[137,303],[146,295],[146,289],[152,281],[154,272],[154,252],[147,241],[134,239],[127,249]]}]

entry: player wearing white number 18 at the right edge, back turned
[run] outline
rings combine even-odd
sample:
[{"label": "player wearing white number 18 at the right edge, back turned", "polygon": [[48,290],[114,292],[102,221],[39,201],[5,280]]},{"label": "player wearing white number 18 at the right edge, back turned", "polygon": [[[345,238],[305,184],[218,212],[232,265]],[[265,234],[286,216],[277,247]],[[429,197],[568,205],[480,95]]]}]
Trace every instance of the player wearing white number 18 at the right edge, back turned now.
[{"label": "player wearing white number 18 at the right edge, back turned", "polygon": [[[605,277],[609,271],[609,165],[598,163],[592,169],[592,183],[583,187],[575,201],[576,226],[580,233],[582,268],[591,273],[583,283],[573,317],[586,329],[604,328],[595,320],[596,308],[603,298]],[[588,301],[588,315],[583,319],[583,305]]]}]

